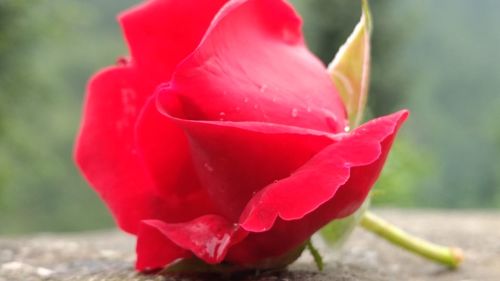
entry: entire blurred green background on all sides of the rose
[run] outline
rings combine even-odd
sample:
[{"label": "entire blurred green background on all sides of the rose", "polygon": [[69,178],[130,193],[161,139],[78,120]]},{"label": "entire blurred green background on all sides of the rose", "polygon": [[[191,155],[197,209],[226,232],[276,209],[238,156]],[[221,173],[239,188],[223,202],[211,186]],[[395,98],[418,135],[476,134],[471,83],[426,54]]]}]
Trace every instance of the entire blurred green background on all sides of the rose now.
[{"label": "entire blurred green background on all sides of the rose", "polygon": [[[88,77],[125,54],[138,0],[0,1],[0,234],[109,227],[72,162]],[[328,63],[358,1],[295,0]],[[374,192],[397,207],[500,207],[500,2],[371,1],[370,116],[412,112]]]}]

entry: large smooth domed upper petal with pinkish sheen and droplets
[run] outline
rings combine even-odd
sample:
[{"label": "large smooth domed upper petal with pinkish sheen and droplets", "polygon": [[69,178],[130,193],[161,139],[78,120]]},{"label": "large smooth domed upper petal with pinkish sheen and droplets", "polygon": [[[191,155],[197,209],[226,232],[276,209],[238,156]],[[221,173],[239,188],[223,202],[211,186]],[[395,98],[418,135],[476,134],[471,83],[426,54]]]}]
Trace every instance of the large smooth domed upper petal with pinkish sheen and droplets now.
[{"label": "large smooth domed upper petal with pinkish sheen and droplets", "polygon": [[285,1],[232,1],[160,95],[177,96],[187,119],[342,131],[344,107],[300,26]]}]

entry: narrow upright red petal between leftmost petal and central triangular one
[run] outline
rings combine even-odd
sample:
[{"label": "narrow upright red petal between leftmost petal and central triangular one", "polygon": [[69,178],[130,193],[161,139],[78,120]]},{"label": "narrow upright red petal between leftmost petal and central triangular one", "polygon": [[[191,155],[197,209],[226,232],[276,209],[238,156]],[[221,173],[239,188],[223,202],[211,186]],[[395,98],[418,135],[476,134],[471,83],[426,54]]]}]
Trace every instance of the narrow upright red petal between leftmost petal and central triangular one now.
[{"label": "narrow upright red petal between leftmost petal and central triangular one", "polygon": [[164,221],[181,222],[213,212],[194,169],[184,130],[158,112],[154,99],[147,102],[137,121],[136,141],[156,192],[175,210]]}]

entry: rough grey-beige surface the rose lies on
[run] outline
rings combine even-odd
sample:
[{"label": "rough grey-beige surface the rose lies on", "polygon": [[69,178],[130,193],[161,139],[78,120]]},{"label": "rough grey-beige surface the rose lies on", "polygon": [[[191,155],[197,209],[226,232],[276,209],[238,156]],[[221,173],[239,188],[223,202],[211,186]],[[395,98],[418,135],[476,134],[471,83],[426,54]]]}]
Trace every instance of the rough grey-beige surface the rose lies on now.
[{"label": "rough grey-beige surface the rose lies on", "polygon": [[448,270],[357,229],[341,250],[320,247],[318,272],[307,252],[287,271],[232,276],[159,276],[133,271],[134,239],[118,231],[0,238],[0,281],[293,281],[500,280],[500,213],[375,210],[405,230],[461,247],[465,261]]}]

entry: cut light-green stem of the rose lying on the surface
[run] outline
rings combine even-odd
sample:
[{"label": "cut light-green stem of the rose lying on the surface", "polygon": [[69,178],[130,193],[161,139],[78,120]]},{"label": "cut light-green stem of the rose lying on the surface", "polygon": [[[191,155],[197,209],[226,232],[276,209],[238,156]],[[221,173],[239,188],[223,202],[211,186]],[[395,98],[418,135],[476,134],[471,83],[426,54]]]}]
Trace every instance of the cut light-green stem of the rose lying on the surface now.
[{"label": "cut light-green stem of the rose lying on the surface", "polygon": [[364,213],[360,225],[397,246],[451,268],[458,267],[463,260],[461,249],[436,245],[410,235],[369,211]]}]

